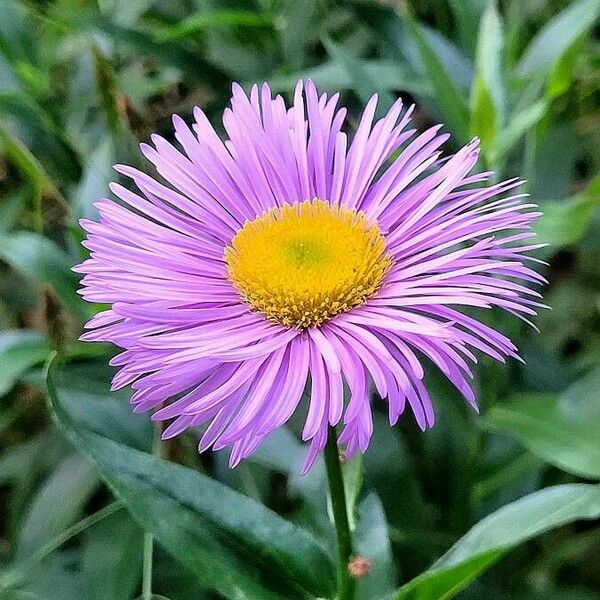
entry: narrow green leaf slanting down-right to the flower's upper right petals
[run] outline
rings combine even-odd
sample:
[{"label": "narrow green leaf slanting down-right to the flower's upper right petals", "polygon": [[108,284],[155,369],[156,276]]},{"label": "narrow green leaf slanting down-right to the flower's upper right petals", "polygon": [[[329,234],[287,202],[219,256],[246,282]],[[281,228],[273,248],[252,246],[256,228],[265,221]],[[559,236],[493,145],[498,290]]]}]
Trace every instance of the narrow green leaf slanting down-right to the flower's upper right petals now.
[{"label": "narrow green leaf slanting down-right to the flower's upper right petals", "polygon": [[463,92],[454,84],[421,26],[410,18],[406,19],[406,24],[408,33],[417,45],[435,99],[440,105],[448,125],[461,142],[467,141],[469,110]]}]

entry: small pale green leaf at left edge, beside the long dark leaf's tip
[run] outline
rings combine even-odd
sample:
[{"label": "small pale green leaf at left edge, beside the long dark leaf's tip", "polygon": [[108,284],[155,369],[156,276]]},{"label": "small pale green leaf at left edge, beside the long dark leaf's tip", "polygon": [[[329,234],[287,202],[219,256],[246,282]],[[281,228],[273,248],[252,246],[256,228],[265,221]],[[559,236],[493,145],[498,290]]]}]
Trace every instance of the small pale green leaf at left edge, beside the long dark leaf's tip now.
[{"label": "small pale green leaf at left edge, beside the long dark leaf's tip", "polygon": [[0,333],[0,396],[8,392],[19,377],[48,356],[46,336],[37,331],[13,330]]}]

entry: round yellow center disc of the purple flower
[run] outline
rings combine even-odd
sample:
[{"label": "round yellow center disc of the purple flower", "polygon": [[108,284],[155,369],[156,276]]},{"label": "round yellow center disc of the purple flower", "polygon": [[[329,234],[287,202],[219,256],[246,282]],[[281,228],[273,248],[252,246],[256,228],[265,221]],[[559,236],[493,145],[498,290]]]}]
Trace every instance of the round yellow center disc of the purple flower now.
[{"label": "round yellow center disc of the purple flower", "polygon": [[300,329],[364,304],[392,265],[377,225],[318,198],[246,223],[225,248],[225,262],[252,308]]}]

